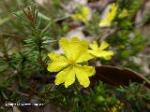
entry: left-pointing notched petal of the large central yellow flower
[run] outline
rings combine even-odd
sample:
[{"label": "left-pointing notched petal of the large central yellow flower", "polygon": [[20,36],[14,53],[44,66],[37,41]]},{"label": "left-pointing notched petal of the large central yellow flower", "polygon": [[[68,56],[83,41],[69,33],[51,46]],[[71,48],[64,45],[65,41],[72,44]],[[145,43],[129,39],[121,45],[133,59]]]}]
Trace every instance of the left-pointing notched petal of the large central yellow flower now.
[{"label": "left-pointing notched petal of the large central yellow flower", "polygon": [[48,71],[50,72],[58,72],[68,65],[68,60],[66,59],[66,57],[62,55],[56,53],[50,53],[48,54],[48,56],[52,61],[48,64],[48,68],[47,68]]}]

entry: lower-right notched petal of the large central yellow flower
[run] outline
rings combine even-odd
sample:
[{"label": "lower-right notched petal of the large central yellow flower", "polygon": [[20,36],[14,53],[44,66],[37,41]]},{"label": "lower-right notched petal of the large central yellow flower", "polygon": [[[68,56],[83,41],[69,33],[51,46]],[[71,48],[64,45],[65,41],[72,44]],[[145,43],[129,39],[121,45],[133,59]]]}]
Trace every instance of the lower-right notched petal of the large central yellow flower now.
[{"label": "lower-right notched petal of the large central yellow flower", "polygon": [[86,88],[90,85],[89,77],[95,74],[95,69],[94,67],[86,65],[85,66],[76,65],[75,73],[79,83]]}]

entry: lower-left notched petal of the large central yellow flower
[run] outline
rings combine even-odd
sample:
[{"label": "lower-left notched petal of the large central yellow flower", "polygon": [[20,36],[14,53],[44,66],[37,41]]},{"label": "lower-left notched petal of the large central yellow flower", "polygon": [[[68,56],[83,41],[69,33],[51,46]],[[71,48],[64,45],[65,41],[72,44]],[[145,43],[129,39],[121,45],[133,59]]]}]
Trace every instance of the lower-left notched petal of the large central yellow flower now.
[{"label": "lower-left notched petal of the large central yellow flower", "polygon": [[67,67],[63,71],[59,72],[56,75],[55,84],[59,85],[61,83],[65,83],[65,87],[67,88],[71,84],[73,84],[75,81],[75,72],[73,70],[73,67]]}]

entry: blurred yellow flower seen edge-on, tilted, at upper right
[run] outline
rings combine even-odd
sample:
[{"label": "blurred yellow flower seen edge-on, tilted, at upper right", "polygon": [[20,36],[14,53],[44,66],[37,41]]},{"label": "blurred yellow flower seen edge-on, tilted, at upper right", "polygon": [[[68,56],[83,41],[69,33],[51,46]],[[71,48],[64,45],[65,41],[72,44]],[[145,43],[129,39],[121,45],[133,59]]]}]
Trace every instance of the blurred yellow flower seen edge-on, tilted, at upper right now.
[{"label": "blurred yellow flower seen edge-on, tilted, at upper right", "polygon": [[99,23],[100,27],[111,26],[112,21],[115,19],[117,14],[118,6],[115,3],[109,4],[102,15],[101,21]]}]

